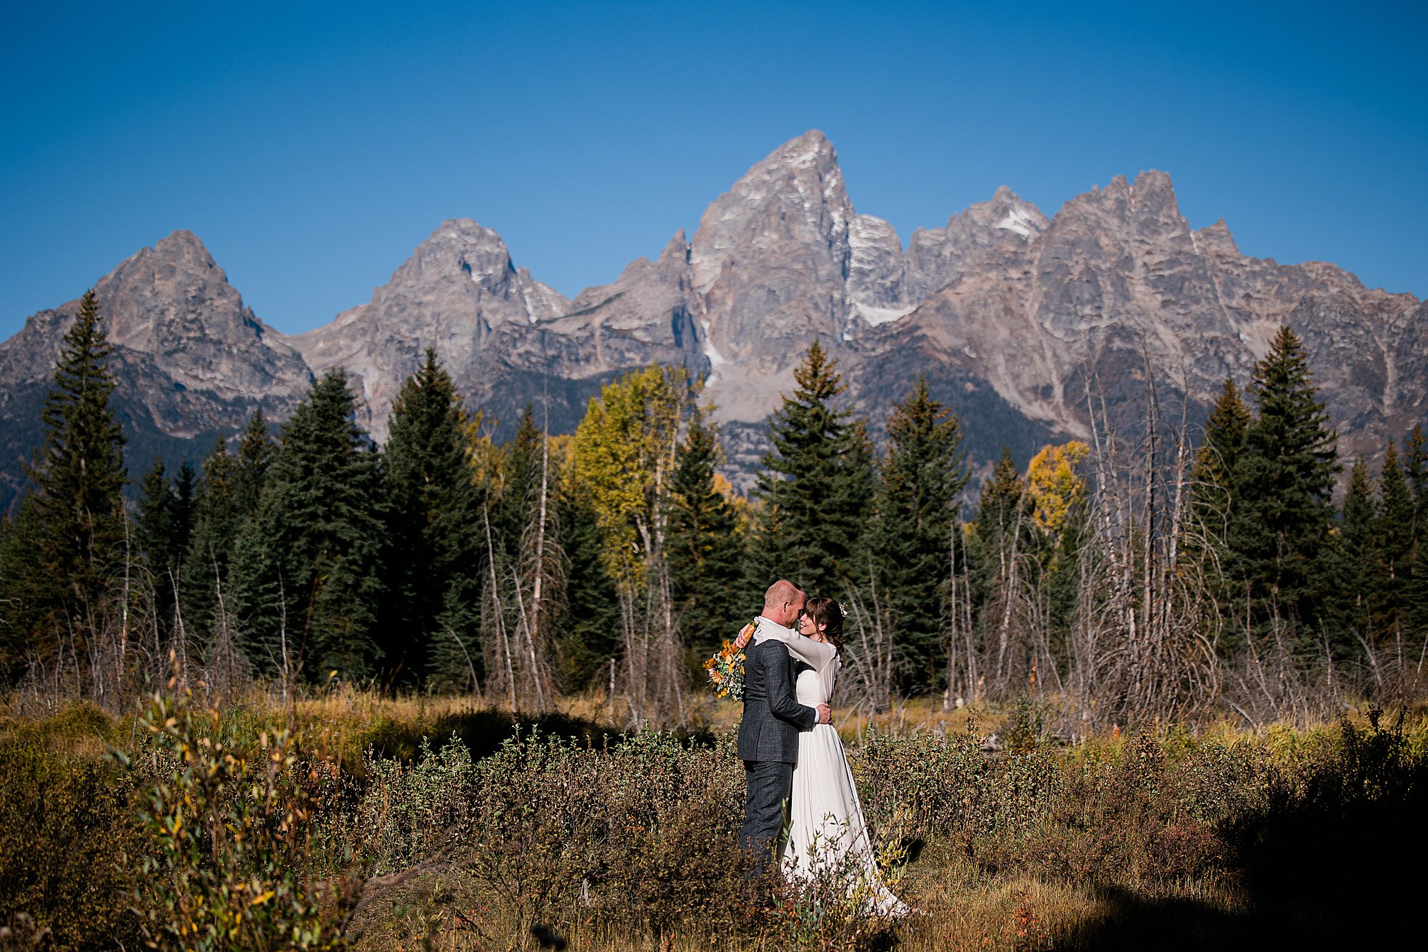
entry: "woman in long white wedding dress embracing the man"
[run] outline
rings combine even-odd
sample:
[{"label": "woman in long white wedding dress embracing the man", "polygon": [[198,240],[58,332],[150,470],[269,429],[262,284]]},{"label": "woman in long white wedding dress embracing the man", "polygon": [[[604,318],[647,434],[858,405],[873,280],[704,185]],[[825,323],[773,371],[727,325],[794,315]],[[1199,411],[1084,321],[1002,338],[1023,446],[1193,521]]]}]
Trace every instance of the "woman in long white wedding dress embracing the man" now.
[{"label": "woman in long white wedding dress embracing the man", "polygon": [[[760,626],[754,638],[778,640],[788,653],[804,662],[798,672],[798,703],[831,703],[833,689],[843,666],[843,609],[833,599],[808,599],[798,619],[798,633],[784,628]],[[740,640],[747,640],[741,636]],[[738,648],[743,648],[740,643]],[[798,765],[794,769],[791,826],[784,866],[793,878],[810,881],[818,871],[848,871],[870,896],[871,911],[884,916],[904,916],[908,908],[888,891],[878,876],[871,835],[853,785],[853,772],[837,729],[815,725],[798,735]]]}]

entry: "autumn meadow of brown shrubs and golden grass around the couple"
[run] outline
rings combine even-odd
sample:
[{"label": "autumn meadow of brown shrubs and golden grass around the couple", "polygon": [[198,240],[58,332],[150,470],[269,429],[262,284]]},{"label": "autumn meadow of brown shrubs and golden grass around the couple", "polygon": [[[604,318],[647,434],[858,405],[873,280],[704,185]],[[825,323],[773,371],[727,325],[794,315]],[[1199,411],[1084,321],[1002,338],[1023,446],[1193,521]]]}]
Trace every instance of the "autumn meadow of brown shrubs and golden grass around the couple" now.
[{"label": "autumn meadow of brown shrubs and golden grass around the couple", "polygon": [[1047,700],[844,722],[901,922],[744,878],[733,705],[684,735],[353,690],[9,716],[0,945],[1198,948],[1411,908],[1422,710],[1068,745]]}]

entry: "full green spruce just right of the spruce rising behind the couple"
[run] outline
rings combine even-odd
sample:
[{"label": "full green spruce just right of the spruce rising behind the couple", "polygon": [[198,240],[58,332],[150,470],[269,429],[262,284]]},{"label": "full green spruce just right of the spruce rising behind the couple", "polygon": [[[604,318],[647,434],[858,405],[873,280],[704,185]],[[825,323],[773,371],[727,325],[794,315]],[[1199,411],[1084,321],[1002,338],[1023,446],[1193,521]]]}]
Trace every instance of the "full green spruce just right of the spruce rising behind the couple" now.
[{"label": "full green spruce just right of the spruce rising behind the couple", "polygon": [[931,689],[942,668],[942,595],[957,497],[967,486],[961,423],[927,377],[894,405],[874,532],[875,575],[902,655],[902,689]]}]

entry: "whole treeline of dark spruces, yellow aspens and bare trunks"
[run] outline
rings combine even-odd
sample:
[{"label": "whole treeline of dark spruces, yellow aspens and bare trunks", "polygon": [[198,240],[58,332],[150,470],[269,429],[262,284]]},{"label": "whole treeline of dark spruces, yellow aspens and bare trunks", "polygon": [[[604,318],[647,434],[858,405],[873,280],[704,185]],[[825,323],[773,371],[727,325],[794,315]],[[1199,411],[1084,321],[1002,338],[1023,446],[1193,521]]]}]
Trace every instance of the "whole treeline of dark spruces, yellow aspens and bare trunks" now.
[{"label": "whole treeline of dark spruces, yellow aspens and bare trunks", "polygon": [[907,382],[880,447],[814,342],[748,497],[683,369],[607,385],[570,436],[527,407],[497,446],[427,350],[383,446],[333,370],[276,436],[254,413],[200,470],[156,460],[130,507],[107,356],[90,293],[0,537],[0,678],[21,696],[114,705],[174,666],[220,693],[600,692],[678,723],[780,576],[844,603],[840,690],[868,709],[1047,693],[1071,725],[1262,723],[1422,683],[1422,429],[1377,473],[1351,460],[1335,506],[1337,435],[1288,327],[1204,426],[1150,385],[1134,426],[1088,390],[1087,439],[1024,469],[1004,453],[975,499],[955,407]]}]

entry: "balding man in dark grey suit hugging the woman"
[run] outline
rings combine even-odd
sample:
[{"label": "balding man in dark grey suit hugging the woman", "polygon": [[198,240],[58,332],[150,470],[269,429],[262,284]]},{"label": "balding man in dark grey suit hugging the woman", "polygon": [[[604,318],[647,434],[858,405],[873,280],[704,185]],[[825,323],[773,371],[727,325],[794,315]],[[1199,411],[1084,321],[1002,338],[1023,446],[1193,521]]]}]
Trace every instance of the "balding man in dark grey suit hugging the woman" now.
[{"label": "balding man in dark grey suit hugging the woman", "polygon": [[808,708],[794,699],[798,672],[787,645],[767,639],[770,626],[788,630],[803,615],[804,593],[780,579],[764,595],[758,633],[744,652],[744,720],[738,725],[738,759],[748,785],[738,843],[754,858],[753,875],[774,858],[794,790],[798,732],[828,723],[828,705]]}]

